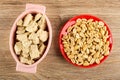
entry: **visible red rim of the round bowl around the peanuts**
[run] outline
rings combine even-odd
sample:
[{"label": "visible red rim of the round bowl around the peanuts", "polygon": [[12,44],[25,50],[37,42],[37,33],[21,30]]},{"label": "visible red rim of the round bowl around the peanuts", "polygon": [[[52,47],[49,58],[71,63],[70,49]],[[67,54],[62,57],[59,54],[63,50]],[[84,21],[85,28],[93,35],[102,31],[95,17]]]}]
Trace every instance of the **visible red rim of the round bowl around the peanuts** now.
[{"label": "visible red rim of the round bowl around the peanuts", "polygon": [[[73,64],[74,66],[83,67],[83,68],[91,68],[91,67],[97,66],[97,65],[99,65],[99,64],[94,63],[94,64],[91,64],[91,65],[89,65],[89,66],[83,66],[83,65],[77,65],[77,64],[75,64],[75,63],[72,63],[71,60],[67,57],[67,55],[66,55],[66,53],[65,53],[65,51],[64,51],[63,44],[62,44],[62,37],[63,37],[64,34],[67,34],[67,28],[68,28],[69,26],[75,24],[75,21],[76,21],[78,18],[80,18],[80,19],[85,18],[85,19],[87,19],[87,20],[88,20],[88,19],[93,19],[93,21],[102,21],[102,22],[105,24],[105,27],[106,27],[106,29],[107,29],[107,31],[108,31],[108,35],[109,35],[109,38],[107,39],[107,40],[110,42],[110,44],[109,44],[109,48],[110,48],[109,52],[111,52],[111,50],[112,50],[112,44],[113,44],[112,34],[111,34],[111,31],[110,31],[108,25],[107,25],[103,20],[101,20],[101,19],[99,19],[99,18],[97,18],[97,17],[95,17],[95,16],[88,15],[88,14],[78,15],[78,16],[75,16],[75,17],[71,18],[71,19],[63,26],[63,28],[61,29],[60,34],[59,34],[59,47],[60,47],[60,51],[61,51],[63,57],[64,57],[69,63]],[[108,57],[108,56],[105,56],[105,57],[100,61],[100,63],[102,63],[103,61],[105,61],[105,59],[107,59],[107,57]]]}]

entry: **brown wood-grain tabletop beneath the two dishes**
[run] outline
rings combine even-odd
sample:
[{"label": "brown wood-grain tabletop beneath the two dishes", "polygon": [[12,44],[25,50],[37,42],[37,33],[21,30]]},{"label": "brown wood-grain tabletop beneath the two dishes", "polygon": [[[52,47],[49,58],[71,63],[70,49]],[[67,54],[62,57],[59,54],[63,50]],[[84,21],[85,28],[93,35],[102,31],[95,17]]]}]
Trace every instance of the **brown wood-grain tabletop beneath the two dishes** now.
[{"label": "brown wood-grain tabletop beneath the two dishes", "polygon": [[[51,48],[38,64],[36,74],[15,71],[16,63],[9,51],[10,29],[26,3],[45,5],[53,29]],[[114,40],[108,59],[91,69],[74,67],[65,61],[57,43],[64,23],[84,13],[103,19]],[[0,80],[120,80],[120,0],[0,0]]]}]

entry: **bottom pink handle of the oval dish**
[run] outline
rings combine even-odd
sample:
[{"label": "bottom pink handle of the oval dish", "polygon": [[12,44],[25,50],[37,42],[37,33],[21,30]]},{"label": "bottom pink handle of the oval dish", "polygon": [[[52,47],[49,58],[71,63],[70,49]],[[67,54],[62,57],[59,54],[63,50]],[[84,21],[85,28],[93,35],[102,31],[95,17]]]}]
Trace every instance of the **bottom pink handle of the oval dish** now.
[{"label": "bottom pink handle of the oval dish", "polygon": [[21,71],[21,72],[36,73],[36,68],[37,65],[30,67],[26,67],[20,63],[17,63],[16,65],[16,71]]}]

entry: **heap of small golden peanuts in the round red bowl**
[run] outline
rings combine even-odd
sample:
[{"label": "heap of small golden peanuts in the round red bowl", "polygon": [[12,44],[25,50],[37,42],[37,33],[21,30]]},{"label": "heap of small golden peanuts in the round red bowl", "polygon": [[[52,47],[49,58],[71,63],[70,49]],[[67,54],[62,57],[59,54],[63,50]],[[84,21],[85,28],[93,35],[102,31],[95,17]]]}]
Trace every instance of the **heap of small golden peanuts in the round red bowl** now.
[{"label": "heap of small golden peanuts in the round red bowl", "polygon": [[105,24],[93,19],[77,19],[62,37],[64,52],[72,63],[99,64],[109,55],[109,37]]}]

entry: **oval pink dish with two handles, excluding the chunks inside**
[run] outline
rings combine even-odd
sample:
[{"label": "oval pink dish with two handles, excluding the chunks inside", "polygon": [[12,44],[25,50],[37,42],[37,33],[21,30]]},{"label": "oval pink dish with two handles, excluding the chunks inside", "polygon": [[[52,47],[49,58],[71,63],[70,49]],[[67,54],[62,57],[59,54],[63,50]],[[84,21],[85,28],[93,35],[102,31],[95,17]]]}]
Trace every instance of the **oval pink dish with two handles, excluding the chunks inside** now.
[{"label": "oval pink dish with two handles, excluding the chunks inside", "polygon": [[[11,32],[10,32],[10,38],[9,38],[9,47],[10,47],[11,54],[12,54],[13,58],[15,59],[16,63],[17,63],[16,71],[35,73],[36,68],[37,68],[37,64],[40,63],[48,53],[48,50],[49,50],[49,48],[51,46],[51,41],[52,41],[52,27],[51,27],[51,23],[50,23],[48,17],[45,15],[45,11],[46,11],[45,6],[26,4],[25,11],[17,17],[17,19],[15,20],[15,22],[14,22],[14,24],[12,26],[12,29],[11,29]],[[22,64],[18,60],[18,57],[17,57],[17,55],[16,55],[16,53],[14,51],[14,38],[15,38],[15,32],[16,32],[16,27],[17,27],[16,23],[18,22],[19,19],[22,19],[28,13],[42,13],[46,18],[48,31],[49,31],[49,40],[48,40],[47,48],[46,48],[43,56],[32,65]]]}]

